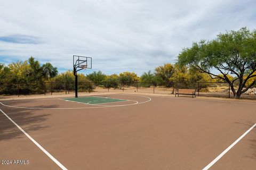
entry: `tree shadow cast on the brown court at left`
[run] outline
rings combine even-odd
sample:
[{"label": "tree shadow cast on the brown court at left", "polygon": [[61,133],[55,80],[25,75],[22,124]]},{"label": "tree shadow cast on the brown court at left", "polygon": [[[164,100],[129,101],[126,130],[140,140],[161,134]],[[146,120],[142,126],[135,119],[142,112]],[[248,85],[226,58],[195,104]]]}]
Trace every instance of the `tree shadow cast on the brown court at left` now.
[{"label": "tree shadow cast on the brown court at left", "polygon": [[[51,107],[56,106],[52,105]],[[47,126],[43,126],[42,122],[47,120],[47,116],[51,114],[35,114],[34,111],[36,111],[36,109],[1,109],[27,133],[48,128]],[[15,126],[2,112],[0,112],[0,141],[20,138],[22,135],[24,134],[18,129],[18,127]]]}]

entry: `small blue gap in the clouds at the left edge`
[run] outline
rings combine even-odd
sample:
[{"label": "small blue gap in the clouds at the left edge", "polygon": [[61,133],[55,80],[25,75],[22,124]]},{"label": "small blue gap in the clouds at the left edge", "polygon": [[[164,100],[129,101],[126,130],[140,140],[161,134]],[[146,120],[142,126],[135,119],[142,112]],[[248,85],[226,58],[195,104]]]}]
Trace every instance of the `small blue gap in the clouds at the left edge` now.
[{"label": "small blue gap in the clouds at the left edge", "polygon": [[0,41],[6,43],[17,43],[17,44],[39,44],[41,43],[39,38],[27,35],[10,35],[0,37]]}]

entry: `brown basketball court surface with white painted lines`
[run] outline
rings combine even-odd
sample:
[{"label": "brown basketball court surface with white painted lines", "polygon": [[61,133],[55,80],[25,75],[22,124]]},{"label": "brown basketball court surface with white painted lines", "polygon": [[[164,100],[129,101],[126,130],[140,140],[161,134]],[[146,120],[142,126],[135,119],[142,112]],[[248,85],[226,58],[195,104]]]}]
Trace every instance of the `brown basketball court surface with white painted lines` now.
[{"label": "brown basketball court surface with white painted lines", "polygon": [[[0,109],[67,169],[203,169],[256,123],[254,103],[94,97],[124,101],[12,100]],[[1,160],[29,160],[0,169],[61,169],[3,113],[0,149]],[[255,169],[255,153],[253,128],[209,169]]]}]

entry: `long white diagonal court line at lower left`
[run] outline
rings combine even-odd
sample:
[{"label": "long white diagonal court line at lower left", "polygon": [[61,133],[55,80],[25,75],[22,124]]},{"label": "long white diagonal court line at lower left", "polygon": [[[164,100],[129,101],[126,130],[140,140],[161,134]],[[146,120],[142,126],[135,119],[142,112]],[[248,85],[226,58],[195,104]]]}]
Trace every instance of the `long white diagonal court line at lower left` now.
[{"label": "long white diagonal court line at lower left", "polygon": [[51,158],[55,164],[57,164],[61,169],[67,170],[67,168],[66,168],[65,166],[63,166],[57,159],[55,159],[49,152],[47,152],[41,145],[39,145],[39,143],[37,143],[37,141],[35,141],[33,138],[31,138],[30,135],[29,135],[27,132],[25,132],[22,128],[20,128],[20,126],[19,126],[17,123],[15,123],[8,115],[6,115],[6,114],[2,111],[2,109],[0,109],[0,111],[1,111],[7,118],[9,118],[9,120],[10,120],[15,126],[17,126],[17,128],[19,128],[19,130],[20,130],[22,133],[24,133],[24,134],[28,137],[28,139],[30,139],[33,143],[35,143],[35,145],[36,145],[39,149],[41,149],[41,150],[44,152],[44,154],[46,154],[49,158]]}]

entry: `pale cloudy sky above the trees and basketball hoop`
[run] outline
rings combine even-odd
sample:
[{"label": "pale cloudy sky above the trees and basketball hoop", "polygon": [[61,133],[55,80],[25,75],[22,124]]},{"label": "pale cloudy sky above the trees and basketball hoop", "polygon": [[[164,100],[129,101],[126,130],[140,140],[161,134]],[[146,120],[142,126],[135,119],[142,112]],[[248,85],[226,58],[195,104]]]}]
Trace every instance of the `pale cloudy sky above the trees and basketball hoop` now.
[{"label": "pale cloudy sky above the trees and basketball hoop", "polygon": [[141,75],[174,64],[193,41],[256,28],[253,0],[0,1],[0,63],[34,56],[59,72],[81,55],[92,57],[81,73]]}]

